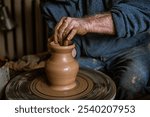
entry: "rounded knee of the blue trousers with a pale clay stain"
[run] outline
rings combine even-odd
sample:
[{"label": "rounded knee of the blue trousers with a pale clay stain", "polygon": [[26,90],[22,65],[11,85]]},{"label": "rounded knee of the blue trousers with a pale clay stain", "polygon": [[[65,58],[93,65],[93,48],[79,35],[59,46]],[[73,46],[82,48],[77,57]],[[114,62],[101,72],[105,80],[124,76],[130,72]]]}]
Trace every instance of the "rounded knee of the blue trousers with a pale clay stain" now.
[{"label": "rounded knee of the blue trousers with a pale clay stain", "polygon": [[[124,72],[120,73],[118,88],[125,99],[134,99],[145,94],[149,79],[149,69],[141,62],[131,62]],[[123,93],[122,93],[123,92]]]}]

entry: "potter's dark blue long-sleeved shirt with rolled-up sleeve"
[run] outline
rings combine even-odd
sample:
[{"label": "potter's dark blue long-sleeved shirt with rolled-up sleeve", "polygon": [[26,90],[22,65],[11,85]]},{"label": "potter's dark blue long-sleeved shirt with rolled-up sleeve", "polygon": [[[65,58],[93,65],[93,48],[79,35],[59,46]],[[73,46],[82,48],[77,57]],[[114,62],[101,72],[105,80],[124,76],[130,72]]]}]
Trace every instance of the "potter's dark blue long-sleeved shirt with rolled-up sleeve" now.
[{"label": "potter's dark blue long-sleeved shirt with rolled-up sleeve", "polygon": [[80,38],[86,39],[76,39],[79,56],[82,53],[90,57],[111,57],[120,50],[150,41],[150,0],[69,0],[66,3],[47,0],[41,5],[50,35],[63,16],[83,17],[112,13],[116,36],[85,35]]}]

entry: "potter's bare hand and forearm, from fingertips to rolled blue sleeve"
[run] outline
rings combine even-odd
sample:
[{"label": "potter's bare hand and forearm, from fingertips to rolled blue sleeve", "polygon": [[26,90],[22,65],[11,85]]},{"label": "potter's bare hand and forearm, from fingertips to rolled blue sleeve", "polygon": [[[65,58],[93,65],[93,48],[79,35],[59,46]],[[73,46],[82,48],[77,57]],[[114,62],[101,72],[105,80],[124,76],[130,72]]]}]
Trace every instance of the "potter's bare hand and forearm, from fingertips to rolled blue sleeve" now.
[{"label": "potter's bare hand and forearm, from fingertips to rolled blue sleeve", "polygon": [[60,45],[69,45],[73,37],[87,33],[114,35],[114,23],[111,13],[98,14],[85,18],[63,17],[56,25],[51,41]]}]

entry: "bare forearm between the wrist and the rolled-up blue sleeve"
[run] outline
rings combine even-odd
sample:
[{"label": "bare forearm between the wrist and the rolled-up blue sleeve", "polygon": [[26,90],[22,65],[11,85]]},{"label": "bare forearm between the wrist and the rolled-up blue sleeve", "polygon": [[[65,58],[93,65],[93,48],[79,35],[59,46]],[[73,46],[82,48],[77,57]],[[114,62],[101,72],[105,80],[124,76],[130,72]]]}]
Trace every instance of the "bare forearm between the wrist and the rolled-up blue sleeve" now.
[{"label": "bare forearm between the wrist and the rolled-up blue sleeve", "polygon": [[97,14],[87,18],[87,32],[115,35],[111,13]]}]

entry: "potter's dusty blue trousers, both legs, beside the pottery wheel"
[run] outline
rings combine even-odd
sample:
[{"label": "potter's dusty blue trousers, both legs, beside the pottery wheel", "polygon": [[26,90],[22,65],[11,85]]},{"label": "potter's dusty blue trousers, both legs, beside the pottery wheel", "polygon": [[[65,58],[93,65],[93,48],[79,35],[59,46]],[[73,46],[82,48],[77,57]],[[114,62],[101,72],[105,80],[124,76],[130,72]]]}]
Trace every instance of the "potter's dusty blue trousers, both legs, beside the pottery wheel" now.
[{"label": "potter's dusty blue trousers, both legs, beside the pottery wheel", "polygon": [[[111,47],[106,45],[106,51],[112,51],[109,48]],[[97,49],[101,50],[101,46]],[[116,99],[136,99],[149,92],[150,44],[125,49],[108,58],[84,55],[77,60],[80,67],[99,70],[109,75],[117,85]]]}]

